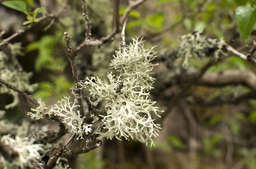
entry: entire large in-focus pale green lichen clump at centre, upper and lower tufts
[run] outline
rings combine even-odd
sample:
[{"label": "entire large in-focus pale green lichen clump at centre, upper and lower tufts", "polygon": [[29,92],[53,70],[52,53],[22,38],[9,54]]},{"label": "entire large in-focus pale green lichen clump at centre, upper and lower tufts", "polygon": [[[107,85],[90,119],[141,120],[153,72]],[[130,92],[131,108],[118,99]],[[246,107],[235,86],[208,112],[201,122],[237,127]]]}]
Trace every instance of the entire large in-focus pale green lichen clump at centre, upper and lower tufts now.
[{"label": "entire large in-focus pale green lichen clump at centre, upper and lower tufts", "polygon": [[87,77],[81,82],[81,88],[90,86],[90,95],[97,98],[94,103],[105,100],[107,115],[102,116],[104,128],[107,132],[97,132],[99,138],[134,139],[154,145],[152,136],[156,137],[160,125],[154,124],[151,112],[158,117],[158,107],[154,107],[155,101],[151,101],[148,90],[154,78],[149,76],[153,68],[152,59],[156,53],[151,49],[143,48],[143,41],[133,39],[128,48],[116,51],[116,56],[111,61],[111,67],[124,73],[120,76],[108,73],[109,83],[102,82],[98,77]]}]

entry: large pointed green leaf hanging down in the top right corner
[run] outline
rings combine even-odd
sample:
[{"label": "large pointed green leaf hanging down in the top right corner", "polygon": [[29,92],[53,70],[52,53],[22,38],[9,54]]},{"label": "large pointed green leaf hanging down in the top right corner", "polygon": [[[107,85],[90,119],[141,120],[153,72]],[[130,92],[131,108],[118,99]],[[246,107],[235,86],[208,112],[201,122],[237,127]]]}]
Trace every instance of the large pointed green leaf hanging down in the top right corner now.
[{"label": "large pointed green leaf hanging down in the top right corner", "polygon": [[253,26],[256,23],[256,9],[250,6],[239,6],[235,12],[239,34],[247,45]]}]

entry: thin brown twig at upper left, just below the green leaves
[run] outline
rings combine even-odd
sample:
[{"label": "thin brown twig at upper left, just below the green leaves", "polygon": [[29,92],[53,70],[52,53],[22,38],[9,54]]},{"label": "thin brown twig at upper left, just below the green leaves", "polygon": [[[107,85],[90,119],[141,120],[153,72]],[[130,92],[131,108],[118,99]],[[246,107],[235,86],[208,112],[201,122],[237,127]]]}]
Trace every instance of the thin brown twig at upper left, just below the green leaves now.
[{"label": "thin brown twig at upper left, just below the green leaves", "polygon": [[37,25],[38,23],[41,23],[42,21],[44,20],[47,20],[47,19],[53,19],[53,18],[56,18],[56,16],[54,14],[49,14],[49,15],[46,15],[44,17],[41,17],[39,18],[39,22],[37,23],[31,23],[29,25],[26,25],[26,26],[23,26],[22,29],[16,31],[14,34],[12,34],[10,37],[6,38],[6,39],[3,39],[2,42],[0,42],[0,47],[3,46],[4,44],[10,42],[12,39],[14,39],[15,37],[23,34],[25,31],[28,31],[29,29],[31,29],[34,25]]}]

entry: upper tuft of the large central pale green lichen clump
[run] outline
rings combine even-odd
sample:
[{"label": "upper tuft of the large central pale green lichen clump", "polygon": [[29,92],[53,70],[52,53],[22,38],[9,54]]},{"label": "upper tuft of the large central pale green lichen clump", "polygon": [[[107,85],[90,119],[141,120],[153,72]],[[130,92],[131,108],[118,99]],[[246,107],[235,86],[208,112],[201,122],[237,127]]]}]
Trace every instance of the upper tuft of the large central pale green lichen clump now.
[{"label": "upper tuft of the large central pale green lichen clump", "polygon": [[134,77],[137,82],[140,83],[145,90],[152,89],[152,83],[154,78],[149,76],[153,69],[151,61],[157,57],[157,53],[151,49],[144,49],[142,38],[139,37],[132,39],[133,42],[127,48],[116,51],[116,56],[113,56],[113,60],[110,63],[111,68],[117,71],[121,71],[123,68],[124,77]]}]

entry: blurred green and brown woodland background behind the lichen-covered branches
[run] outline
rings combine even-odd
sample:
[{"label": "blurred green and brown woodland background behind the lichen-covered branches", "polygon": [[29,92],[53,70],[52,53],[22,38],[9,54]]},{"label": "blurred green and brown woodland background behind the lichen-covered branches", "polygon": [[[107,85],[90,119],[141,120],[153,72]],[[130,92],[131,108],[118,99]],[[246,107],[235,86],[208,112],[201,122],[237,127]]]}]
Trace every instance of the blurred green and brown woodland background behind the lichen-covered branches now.
[{"label": "blurred green and brown woodland background behind the lichen-covered branches", "polygon": [[[60,12],[58,19],[40,22],[11,40],[20,45],[22,53],[16,55],[21,68],[32,72],[29,84],[38,84],[36,90],[28,93],[42,98],[49,106],[54,105],[64,96],[72,97],[73,77],[63,32],[72,37],[73,46],[83,42],[81,0],[23,2],[32,11],[44,6],[48,14]],[[220,54],[221,59],[212,63],[214,49],[204,47],[208,39],[223,39],[247,54],[256,31],[252,31],[245,45],[239,35],[235,10],[238,6],[255,5],[254,0],[146,0],[134,8],[128,15],[126,43],[131,42],[131,37],[144,37],[144,47],[157,45],[154,50],[159,54],[154,61],[159,65],[153,69],[156,81],[150,93],[151,100],[165,111],[161,119],[156,118],[162,127],[160,136],[154,139],[155,146],[151,148],[135,141],[102,140],[99,148],[70,158],[72,169],[256,169],[256,67],[229,53]],[[87,7],[92,37],[108,35],[113,27],[113,1],[87,0]],[[128,0],[121,0],[119,14],[124,14],[127,7]],[[0,4],[0,32],[5,31],[1,39],[20,30],[24,21],[26,14]],[[184,34],[201,38],[191,48],[193,57],[186,65],[179,59],[186,50],[186,38],[181,38]],[[113,71],[109,63],[121,41],[117,34],[113,42],[99,48],[83,48],[76,58],[79,79],[98,76],[106,81],[107,72]],[[201,47],[203,54],[198,54]],[[206,70],[198,77],[203,68]],[[87,94],[84,91],[84,96]],[[18,97],[19,103],[6,109],[14,96],[0,93],[0,110],[6,111],[5,120],[18,125],[24,120],[38,123],[26,115],[33,106]],[[104,103],[97,108],[104,110]],[[39,123],[58,129],[52,121]],[[0,129],[0,135],[8,132]],[[70,133],[64,140],[68,138]],[[69,146],[75,145],[79,141]]]}]

